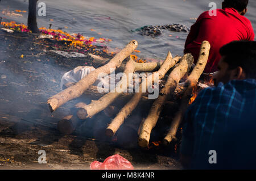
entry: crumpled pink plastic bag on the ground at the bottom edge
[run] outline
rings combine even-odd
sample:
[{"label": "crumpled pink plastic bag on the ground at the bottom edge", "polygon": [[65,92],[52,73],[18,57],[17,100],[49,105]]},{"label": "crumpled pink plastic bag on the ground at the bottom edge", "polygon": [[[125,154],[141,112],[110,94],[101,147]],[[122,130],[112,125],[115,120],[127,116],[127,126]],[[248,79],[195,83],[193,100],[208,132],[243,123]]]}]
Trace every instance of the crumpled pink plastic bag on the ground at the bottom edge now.
[{"label": "crumpled pink plastic bag on the ground at the bottom edge", "polygon": [[90,163],[91,170],[134,170],[127,159],[116,154],[105,159],[103,163],[94,161]]}]

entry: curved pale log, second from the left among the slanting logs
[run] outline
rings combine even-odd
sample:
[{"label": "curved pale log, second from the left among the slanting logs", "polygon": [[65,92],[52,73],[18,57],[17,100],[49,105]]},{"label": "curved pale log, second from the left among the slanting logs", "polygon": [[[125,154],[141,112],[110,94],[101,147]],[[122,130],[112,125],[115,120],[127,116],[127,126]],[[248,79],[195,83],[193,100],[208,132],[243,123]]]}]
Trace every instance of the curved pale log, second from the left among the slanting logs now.
[{"label": "curved pale log, second from the left among the slanting logs", "polygon": [[134,72],[134,61],[130,58],[129,62],[127,62],[126,64],[126,68],[124,72],[127,79],[122,78],[121,81],[119,81],[117,84],[117,87],[120,87],[121,90],[117,91],[117,89],[119,88],[115,87],[115,92],[109,92],[108,94],[102,96],[98,100],[92,100],[92,103],[81,107],[79,111],[77,111],[77,116],[80,119],[86,119],[88,117],[92,117],[96,115],[96,113],[108,107],[115,99],[118,98],[119,95],[122,94],[123,91],[127,89],[131,79],[133,78],[132,76],[129,76],[129,73],[133,73],[133,72]]}]

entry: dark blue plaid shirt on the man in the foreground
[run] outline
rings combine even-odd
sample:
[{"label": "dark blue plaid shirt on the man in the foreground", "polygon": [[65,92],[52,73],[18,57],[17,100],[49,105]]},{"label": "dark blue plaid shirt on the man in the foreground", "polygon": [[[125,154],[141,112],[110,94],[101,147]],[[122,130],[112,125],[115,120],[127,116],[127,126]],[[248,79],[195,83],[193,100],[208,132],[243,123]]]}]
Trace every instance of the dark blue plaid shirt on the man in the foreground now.
[{"label": "dark blue plaid shirt on the man in the foreground", "polygon": [[[250,151],[256,149],[252,141],[256,128],[255,93],[255,79],[220,83],[218,87],[200,92],[185,115],[188,122],[181,146],[182,154],[192,155],[193,169],[253,166],[241,163],[255,162],[254,153]],[[209,150],[217,151],[217,164],[209,164]]]}]

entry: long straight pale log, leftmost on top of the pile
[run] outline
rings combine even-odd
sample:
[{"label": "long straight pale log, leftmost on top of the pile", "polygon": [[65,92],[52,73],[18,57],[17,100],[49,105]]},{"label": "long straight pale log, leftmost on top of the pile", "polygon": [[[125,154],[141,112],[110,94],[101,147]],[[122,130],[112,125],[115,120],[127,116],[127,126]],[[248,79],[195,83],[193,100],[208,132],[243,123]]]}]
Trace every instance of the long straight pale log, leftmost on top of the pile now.
[{"label": "long straight pale log, leftmost on top of the pile", "polygon": [[55,111],[58,107],[68,102],[69,100],[75,99],[82,95],[98,78],[100,74],[110,74],[112,70],[115,70],[121,66],[122,61],[130,55],[131,52],[137,48],[138,42],[136,40],[130,41],[130,43],[117,53],[108,64],[101,66],[100,68],[90,72],[86,77],[82,78],[76,85],[68,87],[48,99],[48,105],[51,112]]}]

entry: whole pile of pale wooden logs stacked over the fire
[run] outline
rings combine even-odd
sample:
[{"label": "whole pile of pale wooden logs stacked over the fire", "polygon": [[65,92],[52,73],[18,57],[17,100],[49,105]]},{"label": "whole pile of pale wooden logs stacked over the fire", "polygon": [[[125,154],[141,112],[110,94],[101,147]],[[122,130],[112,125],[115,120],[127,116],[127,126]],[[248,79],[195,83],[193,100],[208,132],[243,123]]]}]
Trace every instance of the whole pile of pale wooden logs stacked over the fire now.
[{"label": "whole pile of pale wooden logs stacked over the fire", "polygon": [[[139,64],[134,62],[131,58],[124,64],[123,60],[129,57],[137,46],[137,41],[130,41],[130,43],[123,48],[121,52],[116,54],[112,60],[108,61],[107,64],[90,72],[86,77],[82,78],[81,81],[65,85],[67,89],[48,99],[48,105],[51,112],[55,111],[69,100],[78,98],[81,95],[90,96],[90,98],[94,99],[87,105],[85,103],[77,104],[75,106],[77,114],[65,116],[63,120],[60,120],[58,124],[60,132],[71,134],[75,130],[79,120],[86,120],[103,111],[106,116],[113,118],[105,130],[105,135],[107,137],[113,137],[123,123],[125,123],[127,117],[129,117],[135,108],[138,107],[138,104],[143,104],[146,105],[149,112],[146,119],[143,121],[141,120],[141,126],[138,130],[138,145],[142,148],[147,148],[150,142],[151,131],[158,122],[163,107],[167,106],[169,108],[177,106],[177,103],[170,101],[170,96],[175,95],[181,97],[179,111],[174,116],[174,120],[172,120],[169,132],[166,137],[164,137],[163,143],[168,145],[172,140],[175,140],[177,129],[179,128],[185,110],[187,109],[188,102],[191,99],[192,89],[194,86],[197,86],[197,81],[207,64],[210,49],[209,42],[203,41],[199,60],[188,77],[187,75],[191,70],[194,61],[191,54],[184,54],[183,57],[172,57],[172,54],[168,52],[163,64]],[[97,80],[98,75],[102,73],[108,75],[116,69],[123,70],[127,79],[122,78],[115,86],[114,91],[105,94],[98,92],[98,87],[92,86]],[[130,74],[134,74],[134,72],[147,73],[152,71],[154,71],[152,74],[148,75],[145,79],[141,79],[139,83],[139,91],[137,93],[126,92],[129,83],[133,79],[133,77],[129,76]],[[185,87],[179,85],[180,80],[184,79],[184,77],[187,77]],[[167,80],[163,89],[160,90],[159,88],[158,98],[154,100],[148,99],[148,91],[142,91],[143,85],[152,87],[152,83],[155,81],[166,78]],[[120,107],[119,104],[114,104],[117,101],[126,104],[124,106],[122,104],[122,107]]]}]

